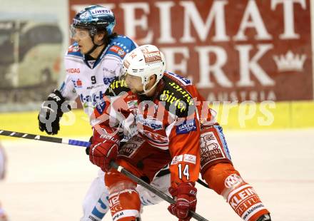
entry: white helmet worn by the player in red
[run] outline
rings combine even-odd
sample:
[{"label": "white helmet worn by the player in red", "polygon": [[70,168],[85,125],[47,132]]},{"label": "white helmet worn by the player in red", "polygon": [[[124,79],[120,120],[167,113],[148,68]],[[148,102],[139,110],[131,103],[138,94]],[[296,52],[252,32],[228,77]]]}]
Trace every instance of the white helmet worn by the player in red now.
[{"label": "white helmet worn by the player in red", "polygon": [[[123,59],[121,76],[129,74],[142,79],[144,94],[151,91],[163,77],[166,60],[156,46],[146,44],[127,53]],[[151,76],[156,75],[156,83],[146,91],[146,84]]]}]

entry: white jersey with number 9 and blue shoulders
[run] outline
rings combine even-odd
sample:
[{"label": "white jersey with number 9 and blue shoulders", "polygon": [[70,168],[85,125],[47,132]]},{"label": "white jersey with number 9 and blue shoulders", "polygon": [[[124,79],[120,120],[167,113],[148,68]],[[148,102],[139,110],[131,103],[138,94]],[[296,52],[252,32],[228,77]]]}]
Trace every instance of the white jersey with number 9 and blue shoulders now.
[{"label": "white jersey with number 9 and blue shoulders", "polygon": [[136,43],[130,38],[117,36],[111,39],[96,61],[86,61],[79,51],[78,44],[74,43],[64,58],[66,79],[59,89],[62,96],[69,101],[79,97],[84,112],[90,116],[111,81],[119,75],[126,53],[136,47]]}]

